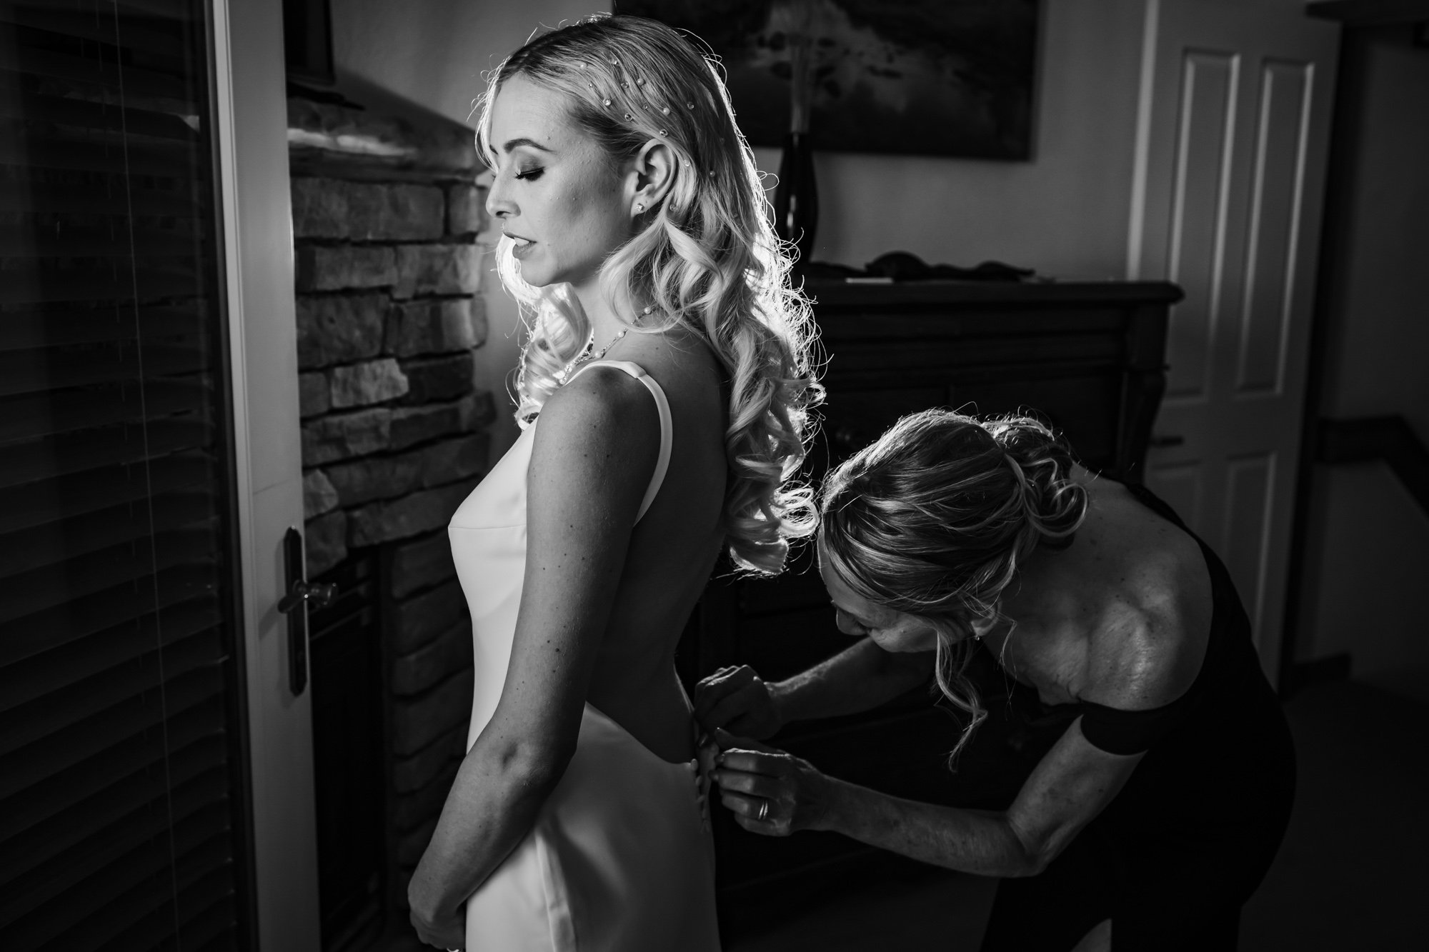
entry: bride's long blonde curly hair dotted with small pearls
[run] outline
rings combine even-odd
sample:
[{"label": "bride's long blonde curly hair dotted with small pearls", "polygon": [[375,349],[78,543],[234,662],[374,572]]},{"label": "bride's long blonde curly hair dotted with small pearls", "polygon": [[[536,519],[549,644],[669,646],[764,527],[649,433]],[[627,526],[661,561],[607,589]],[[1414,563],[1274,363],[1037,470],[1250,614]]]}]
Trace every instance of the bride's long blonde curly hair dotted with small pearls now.
[{"label": "bride's long blonde curly hair dotted with small pearls", "polygon": [[[789,540],[817,525],[812,490],[792,482],[812,439],[809,410],[823,395],[815,376],[809,302],[790,286],[793,264],[775,236],[755,156],[735,124],[729,93],[712,59],[670,27],[640,17],[597,14],[544,33],[492,71],[482,96],[477,147],[487,147],[492,104],[512,76],[559,93],[572,122],[612,163],[652,139],[674,159],[673,184],[637,219],[637,233],[602,266],[602,286],[624,287],[660,319],[632,332],[683,326],[723,365],[729,419],[725,532],[743,569],[777,573]],[[497,246],[497,274],[522,306],[527,327],[516,379],[522,427],[560,386],[560,372],[586,343],[590,324],[569,284],[522,280],[513,242]]]}]

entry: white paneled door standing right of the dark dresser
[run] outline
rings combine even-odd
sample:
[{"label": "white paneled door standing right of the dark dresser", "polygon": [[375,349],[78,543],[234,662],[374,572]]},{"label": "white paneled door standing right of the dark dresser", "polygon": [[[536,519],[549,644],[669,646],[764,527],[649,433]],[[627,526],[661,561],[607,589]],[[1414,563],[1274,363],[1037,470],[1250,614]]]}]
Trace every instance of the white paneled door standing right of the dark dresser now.
[{"label": "white paneled door standing right of the dark dresser", "polygon": [[1127,270],[1186,292],[1146,483],[1220,555],[1279,665],[1339,27],[1150,0]]}]

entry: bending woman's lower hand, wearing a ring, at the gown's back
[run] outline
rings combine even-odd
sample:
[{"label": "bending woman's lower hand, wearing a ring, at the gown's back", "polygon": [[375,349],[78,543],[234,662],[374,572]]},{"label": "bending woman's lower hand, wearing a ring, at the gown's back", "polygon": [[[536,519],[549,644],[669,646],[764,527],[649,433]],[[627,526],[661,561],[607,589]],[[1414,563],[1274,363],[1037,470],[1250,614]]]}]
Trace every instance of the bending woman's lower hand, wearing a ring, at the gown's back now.
[{"label": "bending woman's lower hand, wearing a ring, at the gown's back", "polygon": [[723,753],[710,779],[736,823],[765,836],[827,829],[835,783],[807,760],[727,730],[716,730],[714,740]]}]

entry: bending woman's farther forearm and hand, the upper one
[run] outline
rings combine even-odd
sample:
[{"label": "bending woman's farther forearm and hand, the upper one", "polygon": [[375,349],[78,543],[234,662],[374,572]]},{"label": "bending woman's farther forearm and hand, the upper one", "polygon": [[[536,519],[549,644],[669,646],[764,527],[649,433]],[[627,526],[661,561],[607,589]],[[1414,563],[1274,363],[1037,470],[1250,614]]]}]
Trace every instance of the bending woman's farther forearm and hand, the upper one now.
[{"label": "bending woman's farther forearm and hand, the upper one", "polygon": [[933,676],[933,652],[895,655],[862,638],[793,678],[767,683],[749,665],[722,668],[694,689],[694,716],[763,739],[790,720],[872,710]]}]

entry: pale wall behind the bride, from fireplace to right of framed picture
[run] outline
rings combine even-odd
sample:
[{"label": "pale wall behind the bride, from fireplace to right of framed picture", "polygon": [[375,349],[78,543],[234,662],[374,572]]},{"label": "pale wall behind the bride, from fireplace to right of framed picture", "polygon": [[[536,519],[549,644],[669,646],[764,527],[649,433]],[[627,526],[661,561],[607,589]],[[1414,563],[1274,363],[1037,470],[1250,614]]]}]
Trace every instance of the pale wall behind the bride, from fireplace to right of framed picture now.
[{"label": "pale wall behind the bride, from fireplace to right of framed picture", "polygon": [[[332,0],[337,69],[467,122],[482,70],[537,24],[599,9],[577,0]],[[997,259],[1046,274],[1120,277],[1145,0],[1047,0],[1033,159],[1026,163],[829,153],[817,157],[819,260],[863,264],[905,250],[929,262]],[[779,150],[756,150],[777,172]],[[494,280],[480,386],[516,363],[516,310]],[[516,437],[503,417],[492,450]]]}]

